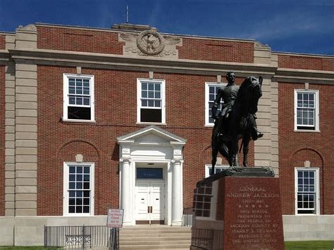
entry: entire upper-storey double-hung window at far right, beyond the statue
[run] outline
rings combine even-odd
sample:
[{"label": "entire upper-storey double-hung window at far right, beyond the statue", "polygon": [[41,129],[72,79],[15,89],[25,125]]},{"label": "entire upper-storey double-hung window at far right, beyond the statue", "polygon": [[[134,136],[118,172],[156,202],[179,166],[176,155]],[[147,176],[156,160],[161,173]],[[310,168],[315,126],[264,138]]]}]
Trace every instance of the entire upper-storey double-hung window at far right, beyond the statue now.
[{"label": "entire upper-storey double-hung window at far right, beyond the statue", "polygon": [[295,130],[319,130],[318,90],[295,89]]}]

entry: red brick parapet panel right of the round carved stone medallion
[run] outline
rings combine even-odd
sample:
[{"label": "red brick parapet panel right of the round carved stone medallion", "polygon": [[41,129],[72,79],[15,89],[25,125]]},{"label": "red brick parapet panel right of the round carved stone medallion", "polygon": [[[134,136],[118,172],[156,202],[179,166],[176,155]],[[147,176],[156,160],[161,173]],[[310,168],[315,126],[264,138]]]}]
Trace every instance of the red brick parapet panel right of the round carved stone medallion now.
[{"label": "red brick parapet panel right of the round carved stone medallion", "polygon": [[180,59],[253,63],[254,43],[183,38],[178,53]]}]

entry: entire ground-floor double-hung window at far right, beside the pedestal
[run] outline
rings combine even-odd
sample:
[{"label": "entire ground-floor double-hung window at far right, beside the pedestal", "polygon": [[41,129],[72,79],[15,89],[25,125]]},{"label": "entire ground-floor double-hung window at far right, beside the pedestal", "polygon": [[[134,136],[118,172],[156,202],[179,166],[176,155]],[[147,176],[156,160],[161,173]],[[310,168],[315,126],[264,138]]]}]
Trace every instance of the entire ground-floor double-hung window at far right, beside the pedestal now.
[{"label": "entire ground-floor double-hung window at far right, beside the pedestal", "polygon": [[296,214],[319,214],[318,168],[295,168]]}]

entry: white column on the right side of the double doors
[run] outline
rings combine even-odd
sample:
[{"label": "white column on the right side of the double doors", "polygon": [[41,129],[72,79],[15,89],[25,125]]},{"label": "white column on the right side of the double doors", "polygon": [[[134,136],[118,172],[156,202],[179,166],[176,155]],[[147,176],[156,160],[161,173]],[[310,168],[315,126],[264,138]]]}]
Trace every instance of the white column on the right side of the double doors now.
[{"label": "white column on the right side of the double doors", "polygon": [[181,225],[183,215],[182,160],[172,160],[172,163],[172,225]]}]

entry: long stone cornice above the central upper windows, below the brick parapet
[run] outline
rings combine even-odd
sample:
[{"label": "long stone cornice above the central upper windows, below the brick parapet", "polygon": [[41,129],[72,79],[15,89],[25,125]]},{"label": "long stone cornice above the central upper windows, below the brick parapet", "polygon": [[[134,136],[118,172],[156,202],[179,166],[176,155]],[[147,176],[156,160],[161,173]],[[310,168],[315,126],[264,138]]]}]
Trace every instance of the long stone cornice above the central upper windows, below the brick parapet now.
[{"label": "long stone cornice above the central upper windows, below the brick parapet", "polygon": [[16,62],[36,63],[39,65],[68,65],[89,68],[107,68],[116,70],[136,70],[164,73],[183,73],[217,75],[235,70],[238,76],[264,75],[272,77],[276,67],[254,63],[231,63],[218,61],[168,60],[166,58],[135,58],[123,55],[87,53],[77,51],[53,51],[47,49],[9,50],[11,58]]}]

